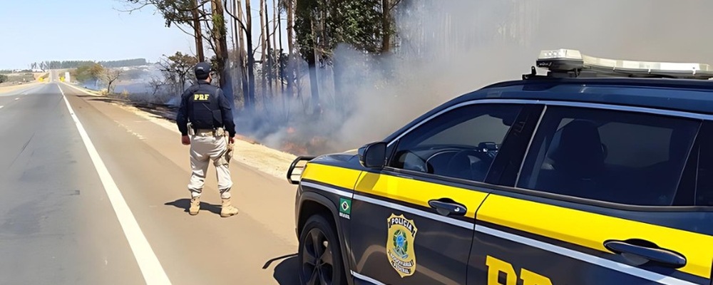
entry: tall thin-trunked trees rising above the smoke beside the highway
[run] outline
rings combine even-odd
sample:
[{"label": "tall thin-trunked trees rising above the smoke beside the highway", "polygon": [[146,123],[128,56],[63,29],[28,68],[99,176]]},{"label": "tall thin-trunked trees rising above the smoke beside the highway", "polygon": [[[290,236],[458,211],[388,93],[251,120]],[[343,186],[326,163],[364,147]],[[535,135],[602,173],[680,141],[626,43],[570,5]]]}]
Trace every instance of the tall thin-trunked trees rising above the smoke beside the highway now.
[{"label": "tall thin-trunked trees rising above the smoke beside the highway", "polygon": [[[334,61],[340,43],[363,53],[389,53],[396,43],[394,14],[408,6],[402,0],[125,1],[136,9],[154,6],[167,26],[193,35],[198,61],[213,63],[220,86],[245,110],[271,104],[267,98],[303,95],[319,108],[324,100],[317,68],[334,72],[334,89],[344,80],[340,71],[348,68]],[[253,24],[256,18],[259,26]],[[287,46],[281,41],[283,31]],[[258,42],[253,40],[256,34]],[[206,56],[206,48],[214,56]],[[307,92],[303,83],[309,84]]]}]

